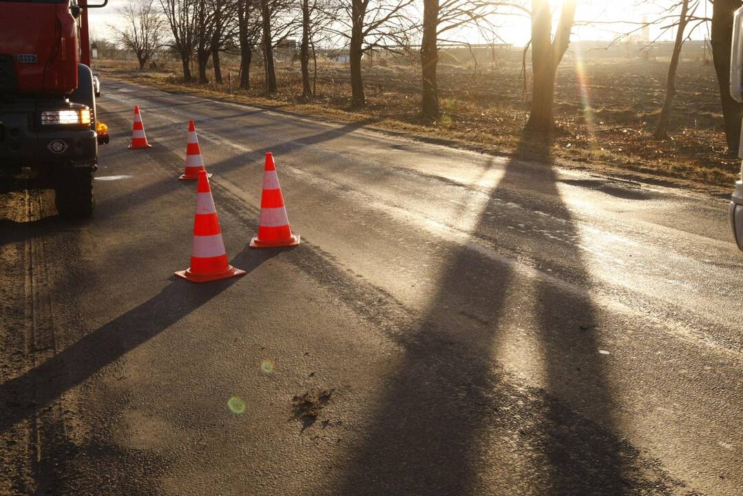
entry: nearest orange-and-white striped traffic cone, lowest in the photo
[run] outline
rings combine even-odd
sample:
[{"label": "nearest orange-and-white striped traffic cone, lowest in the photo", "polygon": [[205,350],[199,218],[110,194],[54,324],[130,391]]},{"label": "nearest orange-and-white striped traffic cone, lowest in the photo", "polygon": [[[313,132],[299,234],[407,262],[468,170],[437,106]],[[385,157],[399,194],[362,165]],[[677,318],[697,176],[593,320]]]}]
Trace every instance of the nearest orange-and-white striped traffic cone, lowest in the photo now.
[{"label": "nearest orange-and-white striped traffic cone, lowest in the photo", "polygon": [[191,266],[185,271],[176,272],[175,275],[194,283],[206,283],[245,275],[245,271],[234,268],[227,262],[217,210],[214,207],[212,190],[209,187],[209,178],[205,170],[198,173]]}]

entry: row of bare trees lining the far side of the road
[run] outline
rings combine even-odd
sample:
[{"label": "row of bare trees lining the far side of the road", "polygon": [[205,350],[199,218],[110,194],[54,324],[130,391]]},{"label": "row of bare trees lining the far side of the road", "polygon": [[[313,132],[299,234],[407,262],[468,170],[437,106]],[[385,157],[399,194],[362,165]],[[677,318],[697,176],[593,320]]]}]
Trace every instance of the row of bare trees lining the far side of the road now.
[{"label": "row of bare trees lining the far side of the road", "polygon": [[[727,89],[733,12],[741,0],[715,0],[710,19],[696,16],[700,0],[671,1],[666,10],[649,22],[635,23],[637,30],[649,24],[675,29],[675,50],[669,65],[666,98],[655,135],[666,137],[675,71],[681,45],[690,27],[711,23],[711,45],[720,85],[727,144],[738,148],[742,107]],[[421,113],[430,120],[440,117],[437,64],[442,42],[457,41],[462,33],[480,33],[498,39],[496,22],[504,16],[531,19],[531,64],[533,73],[531,112],[527,128],[538,134],[554,129],[554,86],[557,68],[570,44],[576,24],[576,0],[559,7],[548,0],[129,0],[122,7],[123,24],[112,26],[120,43],[130,48],[140,67],[158,49],[167,45],[181,59],[184,80],[194,80],[191,62],[198,67],[198,81],[208,82],[210,60],[214,77],[221,83],[220,54],[240,56],[240,88],[250,88],[253,53],[258,51],[265,71],[265,91],[276,91],[273,52],[290,37],[299,37],[302,68],[302,98],[311,100],[310,60],[319,43],[348,48],[351,77],[351,106],[366,106],[362,62],[375,49],[410,51],[420,40]],[[422,7],[422,8],[421,8]],[[559,10],[557,22],[554,17]],[[506,18],[507,19],[507,18]],[[553,32],[554,28],[554,32]],[[628,33],[629,34],[629,33]],[[256,50],[257,49],[257,50]],[[317,61],[316,61],[317,63]]]}]

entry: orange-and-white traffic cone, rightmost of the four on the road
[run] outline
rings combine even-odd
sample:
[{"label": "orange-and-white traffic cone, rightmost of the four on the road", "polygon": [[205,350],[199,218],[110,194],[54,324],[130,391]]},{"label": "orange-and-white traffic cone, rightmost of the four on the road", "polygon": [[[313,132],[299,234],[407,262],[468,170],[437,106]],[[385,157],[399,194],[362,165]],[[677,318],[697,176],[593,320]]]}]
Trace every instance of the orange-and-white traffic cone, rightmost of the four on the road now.
[{"label": "orange-and-white traffic cone, rightmost of the four on the road", "polygon": [[279,177],[276,175],[276,164],[273,164],[271,152],[266,153],[264,171],[258,236],[250,240],[250,248],[299,245],[299,234],[292,234],[289,228],[284,196],[281,193]]}]

